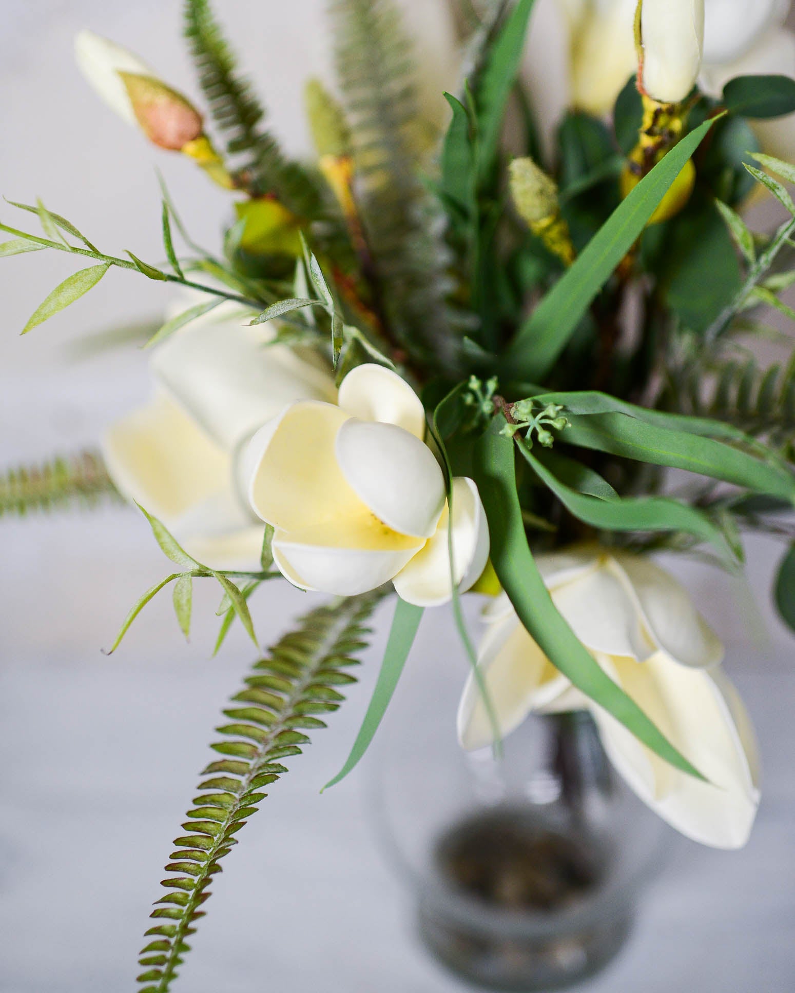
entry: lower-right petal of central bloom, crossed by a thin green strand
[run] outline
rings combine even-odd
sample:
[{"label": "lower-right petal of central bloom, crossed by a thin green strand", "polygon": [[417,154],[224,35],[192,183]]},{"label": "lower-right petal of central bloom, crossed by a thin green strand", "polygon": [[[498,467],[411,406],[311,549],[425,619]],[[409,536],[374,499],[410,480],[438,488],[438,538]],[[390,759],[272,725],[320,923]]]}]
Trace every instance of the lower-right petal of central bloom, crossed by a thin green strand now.
[{"label": "lower-right petal of central bloom, crossed by a thin green strand", "polygon": [[[452,489],[455,582],[464,593],[486,568],[489,528],[478,489],[472,480],[456,478]],[[448,534],[449,514],[445,507],[436,533],[395,577],[397,595],[409,604],[437,607],[452,596]]]}]

